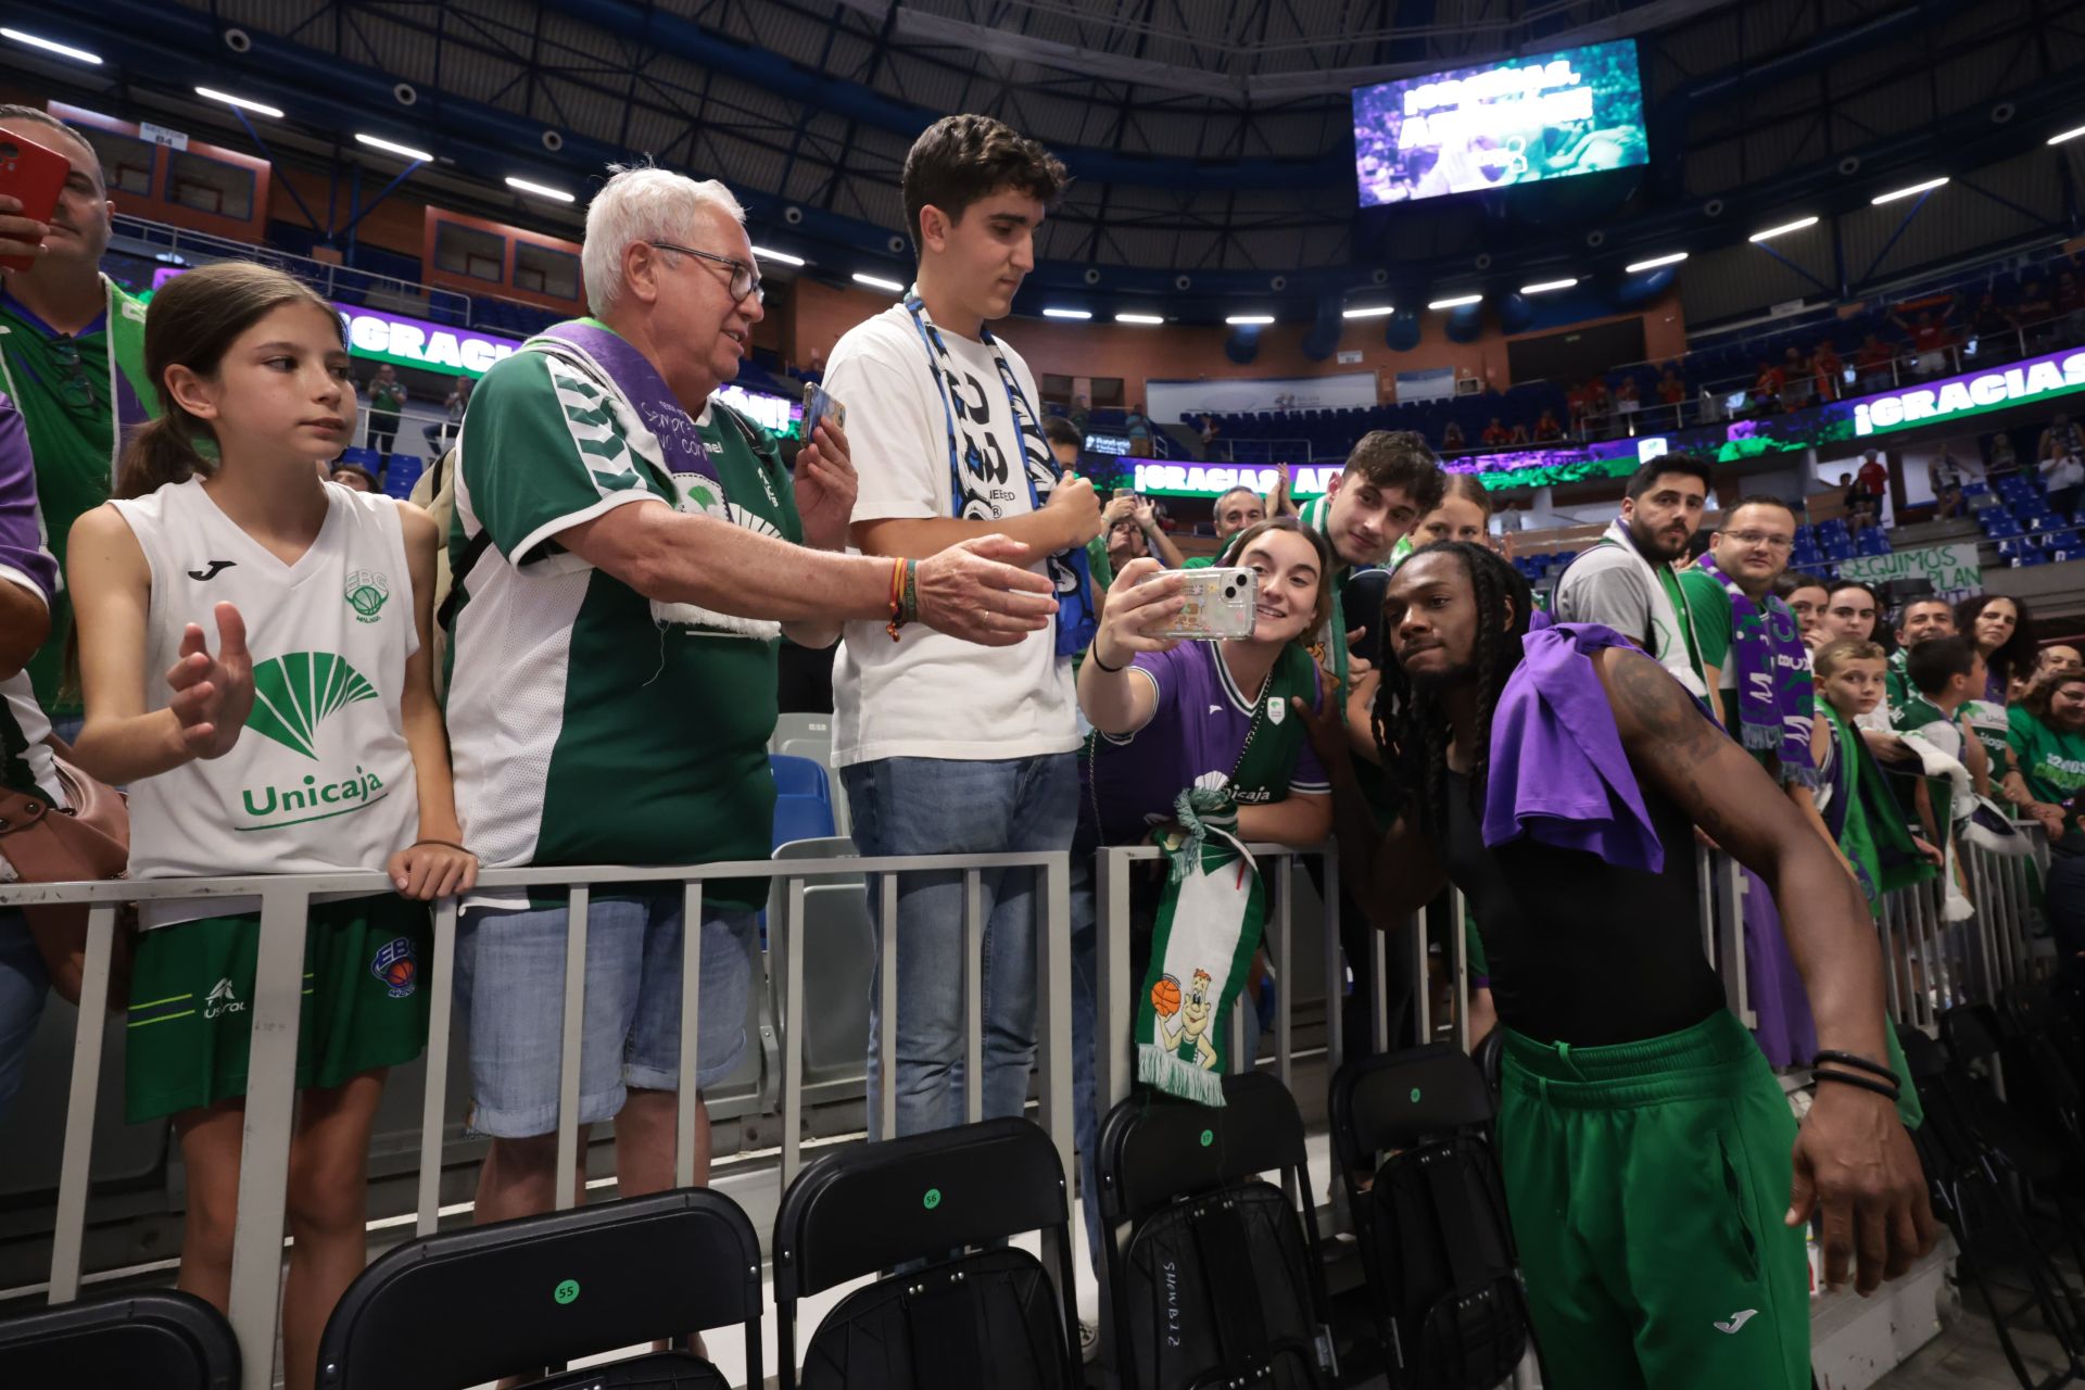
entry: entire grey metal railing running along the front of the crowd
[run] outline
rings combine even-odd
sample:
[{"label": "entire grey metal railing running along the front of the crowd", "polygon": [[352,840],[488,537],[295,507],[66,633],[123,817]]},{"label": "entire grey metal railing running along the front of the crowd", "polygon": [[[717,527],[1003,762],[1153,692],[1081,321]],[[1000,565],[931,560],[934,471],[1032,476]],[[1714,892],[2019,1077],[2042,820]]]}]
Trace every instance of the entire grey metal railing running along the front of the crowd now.
[{"label": "entire grey metal railing running along the front of the crowd", "polygon": [[[1895,1021],[1933,1029],[1939,1015],[1960,1002],[1989,1002],[1997,992],[2047,973],[2054,963],[2052,950],[2037,944],[2029,929],[2031,921],[2031,865],[2045,863],[2045,848],[2033,827],[2022,834],[2035,836],[2035,859],[2008,859],[1977,848],[1962,854],[1968,898],[1977,913],[1964,923],[1943,919],[1943,896],[1939,884],[1922,884],[1885,896],[1876,932],[1883,946],[1887,1002]],[[1272,961],[1274,979],[1280,982],[1272,1025],[1272,1059],[1259,1052],[1259,1025],[1241,996],[1230,1019],[1234,1067],[1257,1067],[1270,1061],[1276,1075],[1291,1090],[1295,1088],[1295,1067],[1299,1057],[1309,1057],[1316,1048],[1297,1046],[1297,1002],[1307,996],[1301,971],[1311,967],[1309,932],[1305,921],[1311,913],[1299,911],[1303,884],[1297,882],[1309,859],[1322,865],[1322,898],[1318,904],[1318,965],[1324,971],[1324,1065],[1326,1075],[1339,1069],[1347,1052],[1343,1038],[1343,1009],[1347,969],[1359,975],[1364,969],[1372,982],[1368,990],[1374,1011],[1370,1017],[1370,1044],[1374,1050],[1407,1046],[1409,1036],[1391,1036],[1389,1017],[1389,952],[1409,950],[1414,967],[1414,1034],[1418,1040],[1453,1038],[1460,1046],[1470,1046],[1470,971],[1464,940],[1464,898],[1457,890],[1447,892],[1449,932],[1443,944],[1441,973],[1447,977],[1447,1017],[1437,1017],[1432,1007],[1430,952],[1426,932],[1418,923],[1407,925],[1401,936],[1370,932],[1368,959],[1345,961],[1339,934],[1339,861],[1332,846],[1284,848],[1253,844],[1253,857],[1261,865],[1268,884],[1266,950]],[[1097,911],[1097,1027],[1095,1027],[1095,1109],[1097,1121],[1132,1090],[1134,1063],[1130,1032],[1136,1009],[1138,982],[1130,975],[1130,879],[1138,861],[1159,859],[1153,846],[1103,848],[1095,861],[1095,911]],[[561,1021],[561,1075],[559,1075],[559,1127],[557,1127],[557,1180],[559,1207],[569,1207],[575,1192],[582,1152],[578,1138],[580,1100],[580,1036],[584,1021],[584,961],[588,936],[588,909],[600,884],[653,884],[661,892],[678,888],[682,892],[684,921],[698,923],[703,917],[703,886],[713,879],[765,877],[776,884],[769,911],[769,957],[774,971],[774,1027],[780,1034],[780,1086],[774,1104],[780,1109],[782,1138],[776,1169],[778,1192],[796,1177],[803,1163],[805,1132],[805,1052],[803,1044],[811,1032],[807,1013],[805,961],[824,942],[811,940],[805,915],[805,888],[821,879],[853,879],[857,875],[882,875],[876,890],[882,894],[882,921],[899,919],[899,875],[903,873],[961,873],[963,875],[963,1113],[967,1119],[982,1117],[982,873],[1003,869],[1028,869],[1036,875],[1036,1098],[1038,1119],[1057,1144],[1065,1173],[1078,1171],[1074,1165],[1074,1117],[1072,1117],[1072,969],[1070,969],[1070,854],[1028,852],[1028,854],[949,854],[949,857],[894,857],[894,859],[782,859],[717,863],[701,867],[586,867],[586,869],[498,869],[482,875],[482,888],[544,888],[569,890],[569,921],[565,946],[565,994]],[[1749,984],[1745,971],[1745,927],[1743,900],[1745,877],[1722,852],[1697,850],[1699,875],[1699,929],[1703,950],[1724,982],[1726,1000],[1733,1013],[1747,1025],[1753,1023]],[[102,1042],[106,1025],[106,992],[113,963],[117,909],[131,900],[208,900],[246,898],[261,900],[261,952],[250,1000],[252,1061],[244,1113],[244,1161],[240,1165],[238,1223],[231,1257],[231,1325],[246,1348],[244,1390],[265,1390],[273,1384],[275,1323],[279,1317],[279,1269],[284,1250],[284,1200],[288,1188],[290,1132],[296,1107],[294,1067],[296,1034],[302,994],[304,921],[315,894],[382,894],[390,892],[388,879],[379,873],[334,873],[298,877],[227,877],[227,879],[181,879],[181,882],[113,882],[113,884],[15,884],[0,888],[0,907],[85,902],[92,904],[88,921],[85,977],[81,986],[81,1009],[73,1036],[73,1069],[65,1119],[65,1159],[58,1177],[56,1221],[50,1252],[50,1302],[67,1302],[79,1296],[83,1240],[88,1223],[88,1188],[92,1159],[94,1111],[100,1088]],[[434,946],[423,979],[430,984],[430,1027],[425,1092],[421,1100],[419,1127],[419,1171],[415,1234],[432,1234],[442,1215],[440,1180],[444,1157],[444,1096],[448,1088],[450,1017],[457,1007],[452,996],[452,965],[457,946],[457,902],[444,900],[434,907]],[[1301,936],[1299,936],[1301,925]],[[676,1123],[676,1182],[694,1182],[694,1130],[696,1115],[696,1046],[701,1036],[701,967],[703,932],[686,929],[686,950],[682,954],[682,1017],[680,1017],[680,1107]],[[886,1025],[880,1029],[880,1075],[884,1084],[876,1104],[880,1109],[880,1132],[892,1134],[897,1119],[897,950],[899,932],[880,934],[878,961],[882,967],[880,1013]],[[759,982],[755,982],[759,990]],[[1799,1082],[1799,1073],[1791,1077]],[[1291,1194],[1303,1200],[1303,1194]],[[1309,1194],[1316,1200],[1316,1194]],[[1047,1261],[1047,1267],[1053,1267]],[[1099,1271],[1105,1282],[1105,1269]],[[1111,1302],[1101,1298],[1103,1319]]]}]

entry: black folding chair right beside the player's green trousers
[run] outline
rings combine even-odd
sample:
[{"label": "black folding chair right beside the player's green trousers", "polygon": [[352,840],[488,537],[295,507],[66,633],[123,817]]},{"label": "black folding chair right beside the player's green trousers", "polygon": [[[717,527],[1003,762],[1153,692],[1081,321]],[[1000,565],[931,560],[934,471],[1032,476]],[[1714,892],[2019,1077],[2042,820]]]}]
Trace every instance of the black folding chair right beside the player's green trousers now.
[{"label": "black folding chair right beside the player's green trousers", "polygon": [[1485,1071],[1451,1042],[1332,1077],[1332,1148],[1399,1390],[1491,1390],[1526,1355],[1493,1113]]}]

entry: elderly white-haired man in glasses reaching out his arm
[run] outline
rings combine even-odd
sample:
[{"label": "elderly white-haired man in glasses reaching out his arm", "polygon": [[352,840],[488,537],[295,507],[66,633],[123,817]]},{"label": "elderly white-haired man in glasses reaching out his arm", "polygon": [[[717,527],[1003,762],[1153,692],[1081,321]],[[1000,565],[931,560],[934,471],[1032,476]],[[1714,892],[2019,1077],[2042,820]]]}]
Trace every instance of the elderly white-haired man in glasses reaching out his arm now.
[{"label": "elderly white-haired man in glasses reaching out his arm", "polygon": [[[1042,629],[1049,581],[1005,538],[930,559],[847,554],[855,469],[826,421],[784,469],[711,392],[761,319],[744,213],[721,183],[619,169],[586,215],[594,317],[480,381],[459,438],[448,736],[463,838],[486,867],[767,859],[778,638],[847,619],[984,644]],[[623,1196],[673,1184],[682,890],[600,888],[586,944],[580,1123],[615,1119]],[[696,1084],[744,1050],[767,879],[703,894]],[[477,1219],[555,1202],[565,894],[465,902],[457,990]],[[696,1127],[707,1180],[709,1119]]]}]

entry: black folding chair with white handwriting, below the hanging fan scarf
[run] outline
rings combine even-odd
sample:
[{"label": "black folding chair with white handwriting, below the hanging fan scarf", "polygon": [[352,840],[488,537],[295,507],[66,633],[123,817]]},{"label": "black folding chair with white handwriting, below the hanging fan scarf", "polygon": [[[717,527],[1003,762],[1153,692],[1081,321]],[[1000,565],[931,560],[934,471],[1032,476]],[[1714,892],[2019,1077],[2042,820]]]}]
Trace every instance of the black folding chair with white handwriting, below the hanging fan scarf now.
[{"label": "black folding chair with white handwriting, below the hanging fan scarf", "polygon": [[1222,1107],[1138,1092],[1097,1148],[1124,1390],[1334,1384],[1303,1115],[1276,1077],[1224,1077]]}]

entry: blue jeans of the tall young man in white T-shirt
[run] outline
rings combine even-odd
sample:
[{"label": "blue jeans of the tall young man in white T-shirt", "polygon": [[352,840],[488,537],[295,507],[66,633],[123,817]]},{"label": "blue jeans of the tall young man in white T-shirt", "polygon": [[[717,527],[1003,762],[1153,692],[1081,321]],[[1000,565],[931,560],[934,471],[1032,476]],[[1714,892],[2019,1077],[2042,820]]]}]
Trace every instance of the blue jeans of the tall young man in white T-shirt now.
[{"label": "blue jeans of the tall young man in white T-shirt", "polygon": [[[840,771],[863,854],[1015,854],[1063,850],[1078,819],[1070,752],[959,763],[878,759]],[[869,1138],[882,1138],[878,1096],[882,1000],[882,875],[869,875],[878,965],[869,975]],[[984,1113],[1020,1115],[1036,1052],[1036,871],[986,869]],[[897,1125],[924,1134],[963,1123],[963,875],[899,875]]]}]

